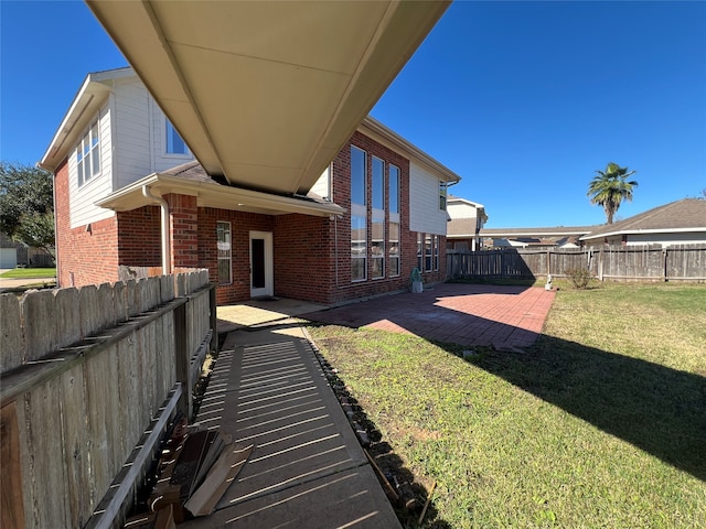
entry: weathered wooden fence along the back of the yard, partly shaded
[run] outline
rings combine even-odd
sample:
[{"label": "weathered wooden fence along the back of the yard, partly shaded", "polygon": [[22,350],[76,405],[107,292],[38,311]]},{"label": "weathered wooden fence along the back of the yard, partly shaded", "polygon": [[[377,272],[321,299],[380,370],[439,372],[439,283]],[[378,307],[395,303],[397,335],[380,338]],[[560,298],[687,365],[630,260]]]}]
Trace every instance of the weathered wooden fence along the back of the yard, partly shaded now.
[{"label": "weathered wooden fence along the back of the yard, partly shaded", "polygon": [[502,248],[447,252],[449,279],[534,279],[582,268],[613,281],[706,281],[706,245]]}]

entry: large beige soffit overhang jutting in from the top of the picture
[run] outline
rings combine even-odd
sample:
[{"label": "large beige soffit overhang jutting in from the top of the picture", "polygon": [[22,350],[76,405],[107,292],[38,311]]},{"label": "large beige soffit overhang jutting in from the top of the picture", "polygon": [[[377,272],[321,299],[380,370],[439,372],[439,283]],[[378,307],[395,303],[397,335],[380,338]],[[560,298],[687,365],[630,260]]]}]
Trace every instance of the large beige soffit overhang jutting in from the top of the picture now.
[{"label": "large beige soffit overhang jutting in from the top of the picture", "polygon": [[211,175],[306,193],[447,1],[87,0]]}]

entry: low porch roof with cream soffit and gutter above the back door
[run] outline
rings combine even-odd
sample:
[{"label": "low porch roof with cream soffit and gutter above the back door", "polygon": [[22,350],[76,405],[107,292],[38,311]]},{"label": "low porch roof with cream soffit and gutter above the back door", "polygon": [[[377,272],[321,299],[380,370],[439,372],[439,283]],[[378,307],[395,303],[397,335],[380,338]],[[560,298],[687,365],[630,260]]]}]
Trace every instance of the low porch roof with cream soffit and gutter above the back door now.
[{"label": "low porch roof with cream soffit and gutter above the back door", "polygon": [[153,173],[138,180],[105,198],[96,205],[125,212],[153,205],[154,201],[145,196],[142,188],[148,187],[157,195],[176,193],[197,197],[202,207],[215,207],[266,215],[300,213],[304,215],[330,216],[345,213],[341,206],[315,196],[285,196],[272,193],[243,190],[218,183],[208,176],[199,162],[189,162],[161,173]]}]

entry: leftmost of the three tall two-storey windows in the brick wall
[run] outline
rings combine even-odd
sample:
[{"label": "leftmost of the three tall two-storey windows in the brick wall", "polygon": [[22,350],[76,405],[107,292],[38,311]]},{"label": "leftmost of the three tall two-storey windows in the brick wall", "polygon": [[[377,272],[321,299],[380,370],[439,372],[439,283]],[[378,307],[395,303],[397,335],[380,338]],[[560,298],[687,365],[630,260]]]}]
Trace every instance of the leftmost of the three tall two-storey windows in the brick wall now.
[{"label": "leftmost of the three tall two-storey windows in the brick wall", "polygon": [[367,156],[351,145],[351,281],[367,279]]}]

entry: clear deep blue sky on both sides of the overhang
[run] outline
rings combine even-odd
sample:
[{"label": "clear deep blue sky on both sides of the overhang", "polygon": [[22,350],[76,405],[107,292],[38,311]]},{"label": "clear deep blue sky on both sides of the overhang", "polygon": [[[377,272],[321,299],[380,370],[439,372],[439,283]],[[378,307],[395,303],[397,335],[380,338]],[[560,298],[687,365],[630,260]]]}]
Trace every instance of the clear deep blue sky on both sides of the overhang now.
[{"label": "clear deep blue sky on both sides of the overhang", "polygon": [[[79,1],[0,2],[0,158],[34,164],[88,72],[127,65]],[[488,227],[601,224],[706,188],[706,2],[453,3],[372,110],[460,174]]]}]

